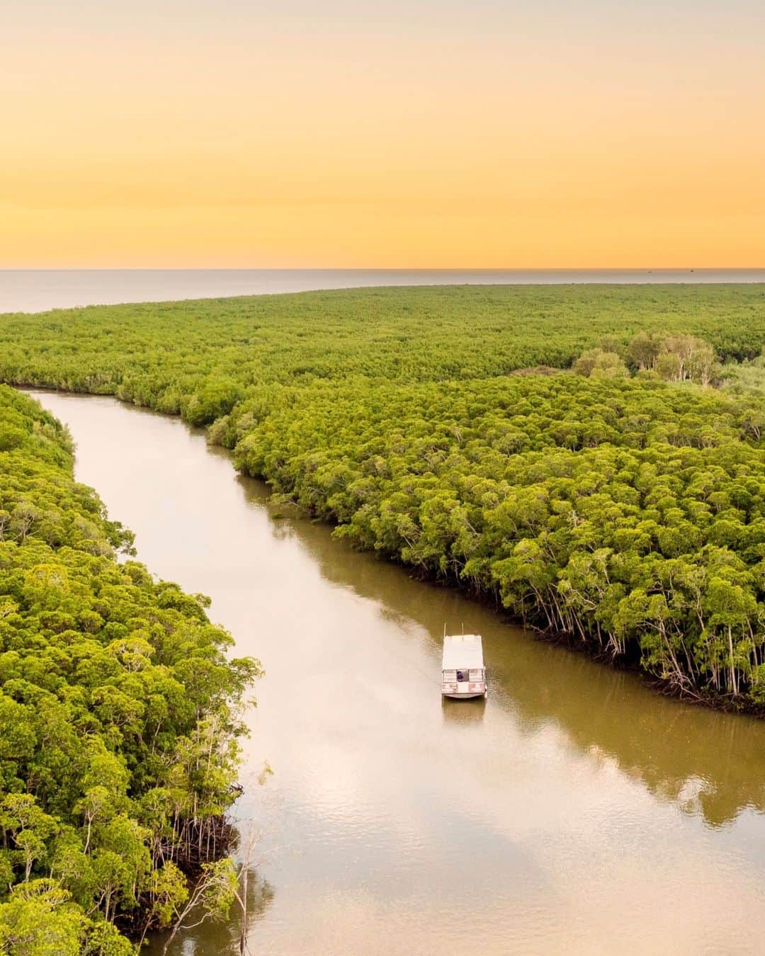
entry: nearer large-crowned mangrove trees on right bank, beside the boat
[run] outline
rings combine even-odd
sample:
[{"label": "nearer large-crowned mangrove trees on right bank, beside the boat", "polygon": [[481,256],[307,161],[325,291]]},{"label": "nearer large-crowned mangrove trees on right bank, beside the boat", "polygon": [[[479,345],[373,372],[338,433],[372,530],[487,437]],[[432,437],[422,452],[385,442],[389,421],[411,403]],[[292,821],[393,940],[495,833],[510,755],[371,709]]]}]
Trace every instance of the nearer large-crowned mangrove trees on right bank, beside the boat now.
[{"label": "nearer large-crowned mangrove trees on right bank, beside the boat", "polygon": [[679,688],[760,701],[765,458],[747,433],[710,390],[560,375],[312,389],[235,455],[361,548]]}]

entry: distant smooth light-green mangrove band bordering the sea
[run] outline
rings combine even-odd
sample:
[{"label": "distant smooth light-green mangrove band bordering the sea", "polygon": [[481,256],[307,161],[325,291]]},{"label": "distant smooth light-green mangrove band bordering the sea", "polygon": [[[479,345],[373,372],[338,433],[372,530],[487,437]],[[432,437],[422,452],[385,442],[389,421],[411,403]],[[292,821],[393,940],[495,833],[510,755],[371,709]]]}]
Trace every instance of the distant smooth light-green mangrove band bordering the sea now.
[{"label": "distant smooth light-green mangrove band bordering the sea", "polygon": [[762,347],[765,286],[448,286],[258,295],[0,318],[0,380],[119,394],[191,424],[241,387],[364,377],[468,380],[638,333],[700,336],[723,361]]}]

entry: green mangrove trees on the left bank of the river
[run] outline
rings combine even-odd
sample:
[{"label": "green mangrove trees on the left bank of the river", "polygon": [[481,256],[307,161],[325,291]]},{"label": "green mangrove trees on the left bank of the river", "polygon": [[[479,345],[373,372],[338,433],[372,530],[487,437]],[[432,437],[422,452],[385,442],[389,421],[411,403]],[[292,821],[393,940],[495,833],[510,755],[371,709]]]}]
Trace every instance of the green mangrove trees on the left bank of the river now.
[{"label": "green mangrove trees on the left bank of the river", "polygon": [[7,386],[0,435],[0,952],[122,956],[166,868],[221,850],[258,667],[203,598],[118,561],[132,535],[67,432]]}]

